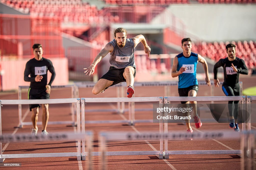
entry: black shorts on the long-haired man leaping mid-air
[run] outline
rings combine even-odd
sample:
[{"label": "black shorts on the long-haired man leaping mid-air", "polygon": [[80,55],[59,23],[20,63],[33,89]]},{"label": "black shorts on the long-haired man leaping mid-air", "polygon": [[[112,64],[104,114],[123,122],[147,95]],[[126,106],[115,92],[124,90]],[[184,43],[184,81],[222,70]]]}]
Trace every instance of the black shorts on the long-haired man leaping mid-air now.
[{"label": "black shorts on the long-haired man leaping mid-air", "polygon": [[[133,74],[133,77],[135,77],[136,75],[136,67],[133,67],[134,68],[134,74]],[[124,73],[124,69],[117,69],[117,68],[114,68],[113,66],[110,66],[109,68],[109,71],[104,74],[101,79],[106,79],[106,80],[110,80],[110,81],[114,81],[113,85],[115,84],[118,84],[118,83],[121,83],[121,82],[126,82],[126,80],[124,79],[124,76],[123,76],[123,73]]]}]

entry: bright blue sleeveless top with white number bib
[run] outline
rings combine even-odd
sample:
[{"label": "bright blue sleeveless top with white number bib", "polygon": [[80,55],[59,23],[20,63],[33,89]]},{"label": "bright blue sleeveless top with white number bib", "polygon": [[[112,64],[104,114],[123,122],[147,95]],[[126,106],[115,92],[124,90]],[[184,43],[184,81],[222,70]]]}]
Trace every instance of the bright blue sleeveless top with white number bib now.
[{"label": "bright blue sleeveless top with white number bib", "polygon": [[196,79],[196,65],[198,63],[198,56],[196,53],[190,54],[189,57],[185,57],[183,53],[177,55],[178,67],[177,71],[183,66],[187,67],[187,70],[179,75],[178,88],[186,88],[193,85],[198,85]]}]

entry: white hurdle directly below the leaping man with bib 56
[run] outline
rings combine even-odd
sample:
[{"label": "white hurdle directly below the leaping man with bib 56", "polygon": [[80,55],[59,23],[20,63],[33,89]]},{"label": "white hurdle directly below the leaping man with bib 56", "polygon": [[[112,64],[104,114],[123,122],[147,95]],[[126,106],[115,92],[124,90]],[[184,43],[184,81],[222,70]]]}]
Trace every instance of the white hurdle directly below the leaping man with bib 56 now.
[{"label": "white hurdle directly below the leaping man with bib 56", "polygon": [[[85,121],[85,103],[91,103],[91,102],[159,102],[160,104],[163,104],[163,97],[133,97],[133,98],[81,98],[81,104],[82,104],[82,133],[85,132],[85,124],[86,123],[94,123],[90,122],[90,121]],[[159,113],[160,116],[163,115],[163,112]],[[110,123],[111,121],[100,121],[103,123]],[[116,121],[115,121],[116,122]],[[124,122],[124,121],[120,121],[120,122]],[[130,122],[130,121],[125,121],[125,122]],[[163,132],[163,120],[159,121],[159,132],[162,133]],[[82,140],[82,160],[85,160],[85,156],[87,155],[87,152],[85,152],[85,142],[84,140]],[[160,139],[160,151],[149,151],[152,152],[154,154],[156,154],[158,156],[159,159],[163,159],[163,140]],[[93,156],[99,156],[100,152],[92,152]],[[123,155],[123,154],[121,154]]]}]

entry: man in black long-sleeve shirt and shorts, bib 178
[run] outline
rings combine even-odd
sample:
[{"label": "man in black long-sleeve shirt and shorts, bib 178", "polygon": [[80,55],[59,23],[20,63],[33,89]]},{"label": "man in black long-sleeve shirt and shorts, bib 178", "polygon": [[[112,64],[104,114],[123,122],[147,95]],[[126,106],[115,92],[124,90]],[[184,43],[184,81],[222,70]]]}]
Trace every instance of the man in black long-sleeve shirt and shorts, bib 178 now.
[{"label": "man in black long-sleeve shirt and shorts, bib 178", "polygon": [[[24,80],[30,82],[28,89],[28,99],[49,99],[51,92],[51,83],[55,78],[54,67],[49,59],[43,58],[43,49],[41,44],[33,45],[33,54],[35,58],[30,59],[24,71]],[[47,84],[47,71],[51,72],[50,82]],[[30,77],[28,76],[30,75]],[[37,134],[37,120],[39,113],[39,104],[29,104],[32,111],[31,120],[33,123],[32,134]],[[42,104],[42,134],[48,135],[46,131],[49,119],[49,104]]]}]

